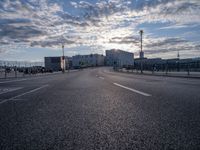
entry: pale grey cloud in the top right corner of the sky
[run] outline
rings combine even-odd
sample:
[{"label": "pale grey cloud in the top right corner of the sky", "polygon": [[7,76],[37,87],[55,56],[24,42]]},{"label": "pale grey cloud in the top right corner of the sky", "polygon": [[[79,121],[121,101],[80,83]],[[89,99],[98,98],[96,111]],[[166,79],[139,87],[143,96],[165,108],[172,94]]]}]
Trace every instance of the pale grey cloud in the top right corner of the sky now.
[{"label": "pale grey cloud in the top right corner of the sky", "polygon": [[[147,14],[148,13],[148,14]],[[200,23],[200,2],[196,0],[170,1],[156,7],[146,7],[143,11],[143,21],[147,22],[172,22],[176,24]]]}]

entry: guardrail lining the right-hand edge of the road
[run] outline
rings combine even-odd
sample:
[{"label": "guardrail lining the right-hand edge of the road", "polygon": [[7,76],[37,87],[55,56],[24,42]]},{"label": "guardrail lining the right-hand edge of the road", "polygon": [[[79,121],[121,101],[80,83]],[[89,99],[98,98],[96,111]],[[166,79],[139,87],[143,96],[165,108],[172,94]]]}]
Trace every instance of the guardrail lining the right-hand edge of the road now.
[{"label": "guardrail lining the right-hand edge of the road", "polygon": [[194,63],[182,64],[136,64],[129,66],[115,66],[115,71],[177,77],[200,78],[200,65]]}]

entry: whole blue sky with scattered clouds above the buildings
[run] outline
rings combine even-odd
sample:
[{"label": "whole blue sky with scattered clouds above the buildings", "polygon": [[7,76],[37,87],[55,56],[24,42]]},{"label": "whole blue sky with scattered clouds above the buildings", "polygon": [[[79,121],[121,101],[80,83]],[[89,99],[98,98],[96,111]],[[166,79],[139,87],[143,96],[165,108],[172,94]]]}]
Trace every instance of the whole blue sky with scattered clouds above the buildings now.
[{"label": "whole blue sky with scattered clouds above the buildings", "polygon": [[149,58],[200,57],[200,0],[0,0],[0,60],[144,52]]}]

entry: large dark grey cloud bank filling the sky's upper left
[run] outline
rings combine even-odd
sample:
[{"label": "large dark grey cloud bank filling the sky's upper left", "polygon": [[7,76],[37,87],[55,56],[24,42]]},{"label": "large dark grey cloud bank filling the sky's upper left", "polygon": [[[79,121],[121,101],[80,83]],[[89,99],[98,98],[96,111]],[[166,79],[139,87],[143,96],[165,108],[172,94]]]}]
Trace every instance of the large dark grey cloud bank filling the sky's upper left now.
[{"label": "large dark grey cloud bank filling the sky's upper left", "polygon": [[[70,27],[86,26],[62,10],[57,4],[46,0],[4,1],[0,3],[0,40],[7,39],[11,43],[26,42],[30,46],[53,47],[62,40],[72,44],[75,41],[61,39]],[[64,31],[64,28],[68,28]],[[52,38],[54,38],[52,40]],[[51,39],[51,40],[49,40]]]}]

